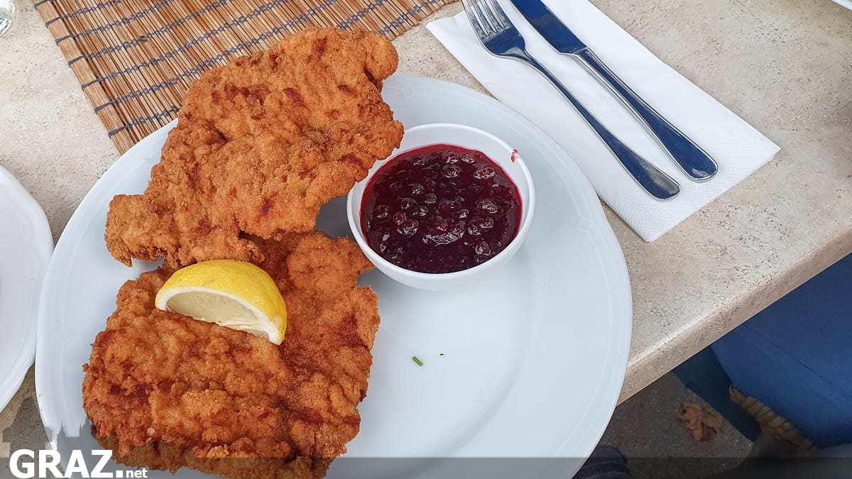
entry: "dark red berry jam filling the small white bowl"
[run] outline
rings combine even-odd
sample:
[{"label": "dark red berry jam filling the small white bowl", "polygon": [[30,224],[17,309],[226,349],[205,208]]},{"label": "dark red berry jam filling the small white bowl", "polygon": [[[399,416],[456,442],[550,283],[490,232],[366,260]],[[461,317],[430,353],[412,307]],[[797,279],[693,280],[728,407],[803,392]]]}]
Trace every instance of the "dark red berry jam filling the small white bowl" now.
[{"label": "dark red berry jam filling the small white bowl", "polygon": [[379,256],[421,273],[452,273],[496,256],[521,224],[521,196],[485,154],[451,145],[391,159],[367,183],[361,229]]}]

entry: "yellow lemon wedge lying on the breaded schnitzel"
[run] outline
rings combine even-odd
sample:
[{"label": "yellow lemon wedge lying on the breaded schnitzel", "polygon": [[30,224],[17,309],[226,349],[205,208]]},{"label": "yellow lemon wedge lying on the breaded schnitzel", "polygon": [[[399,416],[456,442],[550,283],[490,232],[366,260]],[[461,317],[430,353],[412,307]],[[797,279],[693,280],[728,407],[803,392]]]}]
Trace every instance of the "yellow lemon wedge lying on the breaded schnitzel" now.
[{"label": "yellow lemon wedge lying on the breaded schnitzel", "polygon": [[178,269],[158,291],[155,306],[275,344],[284,341],[287,328],[287,306],[275,281],[254,264],[232,259]]}]

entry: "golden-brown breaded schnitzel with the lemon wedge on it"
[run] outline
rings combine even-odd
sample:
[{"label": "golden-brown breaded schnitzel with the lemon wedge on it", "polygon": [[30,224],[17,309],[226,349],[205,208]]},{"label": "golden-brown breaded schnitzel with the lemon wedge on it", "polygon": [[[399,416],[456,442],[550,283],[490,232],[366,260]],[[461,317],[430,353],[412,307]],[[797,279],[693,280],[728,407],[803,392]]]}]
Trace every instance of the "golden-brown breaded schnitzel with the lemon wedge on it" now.
[{"label": "golden-brown breaded schnitzel with the lemon wedge on it", "polygon": [[154,308],[168,267],[118,292],[83,366],[92,436],[127,465],[227,477],[321,477],[359,430],[377,297],[352,240],[255,240],[289,317],[276,346]]}]

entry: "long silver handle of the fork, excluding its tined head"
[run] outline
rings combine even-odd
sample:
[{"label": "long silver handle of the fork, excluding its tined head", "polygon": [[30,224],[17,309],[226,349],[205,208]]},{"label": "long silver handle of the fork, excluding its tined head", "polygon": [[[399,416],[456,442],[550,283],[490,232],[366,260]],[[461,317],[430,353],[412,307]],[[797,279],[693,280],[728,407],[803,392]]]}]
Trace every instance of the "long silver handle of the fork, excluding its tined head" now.
[{"label": "long silver handle of the fork, excluding its tined head", "polygon": [[680,186],[671,178],[671,176],[666,175],[653,164],[648,163],[648,160],[643,159],[638,153],[634,152],[630,149],[630,147],[622,143],[613,135],[612,132],[607,130],[607,127],[589,113],[589,110],[586,110],[577,97],[568,91],[565,85],[563,85],[559,79],[553,75],[553,73],[550,73],[544,65],[538,63],[538,61],[536,61],[532,56],[527,55],[526,52],[520,49],[510,52],[510,55],[507,56],[511,56],[516,60],[527,63],[529,66],[533,66],[533,68],[544,75],[544,78],[550,80],[550,83],[553,84],[553,86],[555,86],[556,89],[565,96],[567,101],[569,101],[573,107],[577,109],[580,115],[583,116],[591,129],[595,130],[597,136],[600,136],[601,140],[609,148],[609,151],[615,155],[615,158],[619,159],[619,162],[625,167],[625,170],[630,173],[630,176],[633,176],[636,182],[639,183],[639,186],[644,188],[645,191],[651,194],[651,196],[657,199],[671,199],[677,193],[680,193]]}]

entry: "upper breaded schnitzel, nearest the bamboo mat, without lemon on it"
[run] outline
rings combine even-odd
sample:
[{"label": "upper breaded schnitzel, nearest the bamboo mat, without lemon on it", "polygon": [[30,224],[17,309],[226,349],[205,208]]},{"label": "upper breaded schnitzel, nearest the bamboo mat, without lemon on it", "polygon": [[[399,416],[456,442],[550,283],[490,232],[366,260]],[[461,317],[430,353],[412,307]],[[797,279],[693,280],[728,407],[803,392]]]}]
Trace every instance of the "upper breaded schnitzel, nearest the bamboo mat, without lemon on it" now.
[{"label": "upper breaded schnitzel, nearest the bamboo mat, without lemon on it", "polygon": [[377,33],[316,28],[204,73],[145,193],[112,199],[112,257],[259,261],[241,233],[314,228],[320,205],[399,145],[402,124],[381,91],[397,62]]}]

